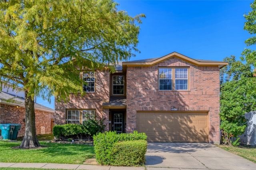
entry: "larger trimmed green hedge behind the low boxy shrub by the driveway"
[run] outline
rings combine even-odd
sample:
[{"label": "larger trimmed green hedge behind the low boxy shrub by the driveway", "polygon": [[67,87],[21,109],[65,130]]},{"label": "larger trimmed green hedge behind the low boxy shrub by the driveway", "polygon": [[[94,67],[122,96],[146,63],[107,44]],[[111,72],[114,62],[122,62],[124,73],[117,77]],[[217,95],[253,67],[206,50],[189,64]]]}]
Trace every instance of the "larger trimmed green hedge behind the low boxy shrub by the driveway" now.
[{"label": "larger trimmed green hedge behind the low boxy shrub by the driveway", "polygon": [[[116,132],[104,132],[104,133],[98,133],[97,135],[94,135],[93,140],[94,140],[94,151],[96,154],[97,162],[101,165],[113,165],[115,162],[114,159],[116,159],[115,155],[113,154],[113,152],[116,152],[113,150],[114,144],[118,142],[123,142],[123,141],[135,141],[135,140],[146,141],[147,136],[145,133],[138,133],[137,131],[134,131],[134,133],[121,133],[121,134],[117,134]],[[140,162],[143,162],[143,161],[144,160],[141,160]],[[115,164],[118,164],[118,163],[115,162]]]}]

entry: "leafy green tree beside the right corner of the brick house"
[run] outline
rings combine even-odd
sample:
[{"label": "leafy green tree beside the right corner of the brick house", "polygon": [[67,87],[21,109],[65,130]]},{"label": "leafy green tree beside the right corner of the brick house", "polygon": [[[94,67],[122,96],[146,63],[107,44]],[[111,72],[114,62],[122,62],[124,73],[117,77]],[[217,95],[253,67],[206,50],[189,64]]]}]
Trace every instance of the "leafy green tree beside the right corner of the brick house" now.
[{"label": "leafy green tree beside the right corner of the brick house", "polygon": [[244,133],[244,114],[256,109],[256,77],[247,63],[236,61],[235,56],[226,57],[228,66],[220,71],[220,128],[223,142],[231,144],[232,137]]}]

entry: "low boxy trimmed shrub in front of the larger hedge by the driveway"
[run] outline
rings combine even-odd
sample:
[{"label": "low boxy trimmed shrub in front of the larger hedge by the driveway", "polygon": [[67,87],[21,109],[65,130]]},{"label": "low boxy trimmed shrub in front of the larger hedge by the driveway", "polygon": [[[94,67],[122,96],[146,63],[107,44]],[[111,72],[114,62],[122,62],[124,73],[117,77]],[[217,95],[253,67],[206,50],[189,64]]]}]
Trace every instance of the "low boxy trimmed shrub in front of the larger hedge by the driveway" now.
[{"label": "low boxy trimmed shrub in front of the larger hedge by the driveway", "polygon": [[133,140],[114,143],[112,166],[139,166],[145,163],[146,140]]}]

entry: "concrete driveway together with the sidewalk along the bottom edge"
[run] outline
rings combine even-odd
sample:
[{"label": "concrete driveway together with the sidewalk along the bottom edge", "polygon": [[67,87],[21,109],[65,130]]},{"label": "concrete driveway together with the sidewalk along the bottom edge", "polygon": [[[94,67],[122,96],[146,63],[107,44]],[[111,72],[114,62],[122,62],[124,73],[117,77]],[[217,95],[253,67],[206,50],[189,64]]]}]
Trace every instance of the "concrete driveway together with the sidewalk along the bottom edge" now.
[{"label": "concrete driveway together with the sidewalk along the bottom edge", "polygon": [[256,164],[209,143],[149,142],[145,167],[0,163],[0,167],[75,170],[256,170]]}]

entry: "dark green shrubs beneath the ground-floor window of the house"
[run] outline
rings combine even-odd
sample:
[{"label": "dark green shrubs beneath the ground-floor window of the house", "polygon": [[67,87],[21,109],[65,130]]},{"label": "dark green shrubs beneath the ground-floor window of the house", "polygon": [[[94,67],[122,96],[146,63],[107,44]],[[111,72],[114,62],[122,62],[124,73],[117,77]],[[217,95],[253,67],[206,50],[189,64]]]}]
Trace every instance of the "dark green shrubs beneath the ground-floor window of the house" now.
[{"label": "dark green shrubs beneath the ground-floor window of the house", "polygon": [[83,125],[65,124],[55,125],[53,127],[53,135],[60,140],[66,138],[90,138],[98,132],[102,132],[105,128],[103,120],[88,119]]}]

